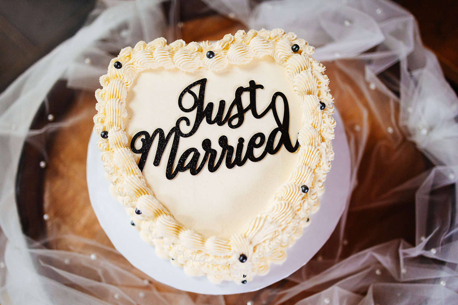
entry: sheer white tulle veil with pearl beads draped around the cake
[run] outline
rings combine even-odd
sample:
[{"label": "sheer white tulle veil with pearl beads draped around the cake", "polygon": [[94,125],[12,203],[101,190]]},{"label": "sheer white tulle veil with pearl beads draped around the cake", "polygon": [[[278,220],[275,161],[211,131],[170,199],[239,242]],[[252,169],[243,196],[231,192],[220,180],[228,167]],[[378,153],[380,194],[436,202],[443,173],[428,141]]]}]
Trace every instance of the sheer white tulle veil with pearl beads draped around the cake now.
[{"label": "sheer white tulle veil with pearl beads draped around the cake", "polygon": [[[267,288],[238,302],[456,302],[458,100],[435,55],[422,45],[414,17],[386,0],[205,2],[245,29],[280,27],[316,47],[314,57],[326,61],[352,153],[354,192],[327,244],[288,278],[291,288]],[[120,264],[114,249],[92,240],[49,236],[84,245],[79,252],[32,242],[22,233],[16,209],[20,148],[27,135],[47,132],[28,128],[55,82],[65,79],[71,88],[93,92],[121,48],[161,36],[169,42],[180,38],[170,22],[160,1],[100,1],[74,37],[1,94],[1,304],[232,304],[223,297],[159,289]],[[50,126],[92,118],[78,115]],[[401,217],[409,207],[412,219]]]}]

